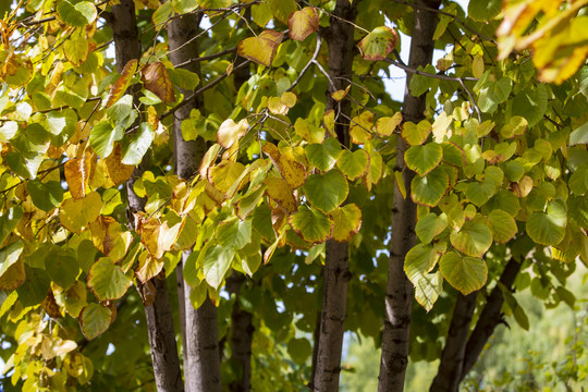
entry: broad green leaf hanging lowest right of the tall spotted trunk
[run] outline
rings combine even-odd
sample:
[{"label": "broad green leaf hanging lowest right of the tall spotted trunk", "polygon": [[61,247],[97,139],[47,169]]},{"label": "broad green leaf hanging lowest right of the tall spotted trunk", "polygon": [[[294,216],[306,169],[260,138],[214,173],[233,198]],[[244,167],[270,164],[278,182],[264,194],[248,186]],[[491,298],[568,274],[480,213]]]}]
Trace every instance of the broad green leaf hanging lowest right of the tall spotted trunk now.
[{"label": "broad green leaf hanging lowest right of the tall spotted trunk", "polygon": [[488,279],[488,267],[482,259],[462,257],[455,252],[449,252],[441,257],[439,269],[443,278],[464,295],[483,287]]}]

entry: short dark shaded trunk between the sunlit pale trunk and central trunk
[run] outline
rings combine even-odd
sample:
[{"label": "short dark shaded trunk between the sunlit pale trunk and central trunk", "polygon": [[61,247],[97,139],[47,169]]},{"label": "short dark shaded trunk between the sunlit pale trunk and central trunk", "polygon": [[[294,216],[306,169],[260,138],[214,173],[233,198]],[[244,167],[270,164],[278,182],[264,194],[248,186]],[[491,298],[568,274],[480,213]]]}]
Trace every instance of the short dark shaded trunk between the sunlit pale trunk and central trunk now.
[{"label": "short dark shaded trunk between the sunlit pale trunk and central trunk", "polygon": [[231,360],[240,367],[241,378],[229,384],[229,390],[233,392],[247,392],[252,387],[252,342],[255,328],[252,322],[253,315],[241,309],[238,305],[244,282],[245,275],[236,271],[226,280],[226,291],[236,296],[231,313]]}]

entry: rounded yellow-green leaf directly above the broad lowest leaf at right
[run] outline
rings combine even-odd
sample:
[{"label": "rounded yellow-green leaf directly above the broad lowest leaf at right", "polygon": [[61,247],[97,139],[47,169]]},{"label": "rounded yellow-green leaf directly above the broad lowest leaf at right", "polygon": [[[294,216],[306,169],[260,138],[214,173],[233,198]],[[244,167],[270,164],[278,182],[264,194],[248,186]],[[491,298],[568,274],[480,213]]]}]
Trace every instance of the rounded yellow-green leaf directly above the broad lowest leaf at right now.
[{"label": "rounded yellow-green leaf directly above the broad lowest leaf at right", "polygon": [[[492,231],[487,224],[481,219],[466,221],[458,232],[451,233],[451,244],[468,256],[483,256],[492,245]],[[445,274],[443,275],[448,279]]]}]

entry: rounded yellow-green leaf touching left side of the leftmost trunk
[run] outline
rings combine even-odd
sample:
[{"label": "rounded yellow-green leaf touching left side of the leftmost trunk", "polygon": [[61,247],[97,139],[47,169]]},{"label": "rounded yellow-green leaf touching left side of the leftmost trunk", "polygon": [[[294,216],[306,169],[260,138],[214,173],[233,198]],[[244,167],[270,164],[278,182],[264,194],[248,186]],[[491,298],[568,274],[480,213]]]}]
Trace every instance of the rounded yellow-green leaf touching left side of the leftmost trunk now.
[{"label": "rounded yellow-green leaf touching left side of the leftmost trunk", "polygon": [[88,289],[99,301],[122,297],[132,283],[133,280],[108,257],[98,259],[88,273]]}]

